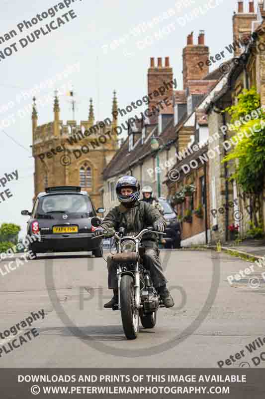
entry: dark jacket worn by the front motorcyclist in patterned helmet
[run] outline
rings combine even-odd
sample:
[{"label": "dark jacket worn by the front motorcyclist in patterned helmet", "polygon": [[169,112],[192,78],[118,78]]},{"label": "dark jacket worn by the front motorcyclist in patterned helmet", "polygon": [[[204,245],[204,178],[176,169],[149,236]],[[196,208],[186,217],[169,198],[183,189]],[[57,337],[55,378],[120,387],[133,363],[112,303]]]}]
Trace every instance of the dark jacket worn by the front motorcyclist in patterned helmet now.
[{"label": "dark jacket worn by the front motorcyclist in patterned helmet", "polygon": [[[125,207],[123,204],[115,206],[104,217],[100,226],[104,228],[114,227],[118,231],[119,227],[125,228],[125,235],[135,235],[146,227],[152,226],[155,221],[161,221],[167,226],[164,216],[157,208],[145,201],[135,201],[132,207]],[[146,247],[156,247],[158,234],[146,233],[141,242]]]}]

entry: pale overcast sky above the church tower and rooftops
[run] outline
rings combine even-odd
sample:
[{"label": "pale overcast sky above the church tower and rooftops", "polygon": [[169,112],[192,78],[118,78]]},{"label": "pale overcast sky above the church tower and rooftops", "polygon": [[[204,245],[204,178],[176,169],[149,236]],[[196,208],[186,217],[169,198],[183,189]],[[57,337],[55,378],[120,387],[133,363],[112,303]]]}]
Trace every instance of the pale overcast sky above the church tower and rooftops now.
[{"label": "pale overcast sky above the church tower and rooftops", "polygon": [[[0,36],[11,29],[19,33],[18,23],[31,20],[36,14],[47,11],[59,2],[2,0]],[[204,29],[205,43],[210,47],[211,55],[222,51],[232,41],[232,15],[237,1],[223,0],[215,8],[202,14],[201,11],[205,12],[205,4],[208,2],[209,0],[167,0],[166,2],[76,0],[69,8],[59,10],[54,17],[38,22],[31,29],[23,29],[14,38],[0,44],[0,51],[14,42],[17,43],[18,49],[6,59],[0,59],[0,126],[3,119],[14,114],[15,122],[4,128],[4,131],[22,146],[14,143],[2,130],[0,131],[0,178],[5,173],[18,171],[18,180],[7,184],[4,188],[10,189],[13,197],[0,203],[0,223],[17,223],[24,233],[27,217],[21,216],[20,211],[32,208],[33,158],[29,147],[32,144],[31,114],[24,118],[17,115],[21,108],[31,102],[31,99],[21,100],[18,104],[16,95],[48,78],[54,78],[67,65],[80,62],[80,71],[72,73],[63,81],[58,81],[58,86],[70,80],[73,82],[78,98],[76,112],[78,121],[88,118],[89,97],[93,98],[96,118],[104,119],[110,115],[114,89],[117,91],[120,107],[146,94],[147,69],[151,56],[156,58],[170,56],[174,77],[177,78],[177,88],[182,89],[182,48],[186,44],[187,34],[194,31],[196,42],[199,30]],[[215,2],[216,0],[213,0],[211,3]],[[176,3],[185,6],[177,9]],[[202,7],[201,11],[198,11],[197,17],[193,16],[193,20],[187,21],[185,14],[190,16],[194,6]],[[165,12],[168,12],[169,8],[175,9],[175,16],[164,19],[153,27],[146,25],[145,33],[134,35],[133,29],[139,24],[147,24],[154,17],[163,15],[165,17]],[[77,18],[71,19],[69,16],[69,22],[45,36],[41,34],[34,43],[21,48],[19,39],[71,9],[78,15]],[[158,40],[155,38],[155,33],[159,34],[160,29],[164,29],[164,37]],[[165,33],[167,31],[168,34]],[[150,38],[153,38],[153,44],[144,44],[147,36],[149,43]],[[120,43],[117,46],[116,41],[116,48],[114,40],[119,40]],[[229,59],[228,52],[226,55]],[[37,102],[39,97],[53,94],[53,91],[54,88],[41,90],[36,95]],[[8,101],[13,101],[14,106],[4,112],[2,107]],[[72,119],[66,96],[60,97],[60,108],[61,119],[64,121]],[[39,124],[52,121],[53,106],[39,107],[38,114]],[[0,191],[2,190],[0,187]]]}]

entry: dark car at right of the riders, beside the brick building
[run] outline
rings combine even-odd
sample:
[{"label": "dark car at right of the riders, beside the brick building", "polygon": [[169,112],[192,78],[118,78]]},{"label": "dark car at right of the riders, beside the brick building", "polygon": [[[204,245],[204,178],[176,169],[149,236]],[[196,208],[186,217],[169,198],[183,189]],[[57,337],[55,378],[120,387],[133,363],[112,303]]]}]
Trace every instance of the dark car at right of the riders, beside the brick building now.
[{"label": "dark car at right of the riders, beside the brick building", "polygon": [[164,217],[167,221],[167,227],[163,236],[166,241],[165,248],[180,248],[181,241],[181,226],[177,220],[177,213],[169,202],[164,198],[159,198],[160,204],[164,209]]}]

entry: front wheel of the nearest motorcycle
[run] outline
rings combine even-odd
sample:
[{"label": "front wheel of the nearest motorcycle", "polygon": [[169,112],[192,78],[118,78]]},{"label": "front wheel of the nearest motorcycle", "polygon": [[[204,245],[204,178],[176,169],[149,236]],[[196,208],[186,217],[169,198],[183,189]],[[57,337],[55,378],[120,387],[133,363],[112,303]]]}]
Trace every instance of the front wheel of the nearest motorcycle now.
[{"label": "front wheel of the nearest motorcycle", "polygon": [[139,309],[135,307],[133,277],[125,274],[120,282],[120,308],[124,334],[135,340],[139,332]]}]

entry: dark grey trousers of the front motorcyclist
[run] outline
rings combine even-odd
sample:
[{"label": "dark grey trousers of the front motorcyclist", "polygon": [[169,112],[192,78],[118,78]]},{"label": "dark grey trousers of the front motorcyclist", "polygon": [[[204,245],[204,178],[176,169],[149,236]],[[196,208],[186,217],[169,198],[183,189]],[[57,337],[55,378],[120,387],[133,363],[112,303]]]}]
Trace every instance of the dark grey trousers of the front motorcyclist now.
[{"label": "dark grey trousers of the front motorcyclist", "polygon": [[[151,279],[155,288],[167,284],[163,268],[159,260],[157,248],[146,248],[144,254],[144,266],[150,271]],[[113,264],[111,256],[107,258],[108,288],[118,288],[117,265]]]}]

